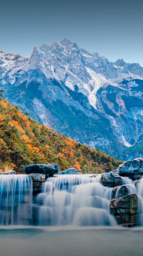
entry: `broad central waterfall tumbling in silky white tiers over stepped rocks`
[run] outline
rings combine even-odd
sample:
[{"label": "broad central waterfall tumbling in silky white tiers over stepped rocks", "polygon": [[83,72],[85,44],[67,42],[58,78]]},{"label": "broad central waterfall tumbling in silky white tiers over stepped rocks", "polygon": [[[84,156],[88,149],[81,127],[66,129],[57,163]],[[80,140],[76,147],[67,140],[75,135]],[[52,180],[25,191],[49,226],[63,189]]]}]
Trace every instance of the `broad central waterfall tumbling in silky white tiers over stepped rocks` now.
[{"label": "broad central waterfall tumbling in silky white tiers over stepped rocks", "polygon": [[111,188],[100,175],[49,177],[38,195],[39,225],[116,225],[110,214]]}]

